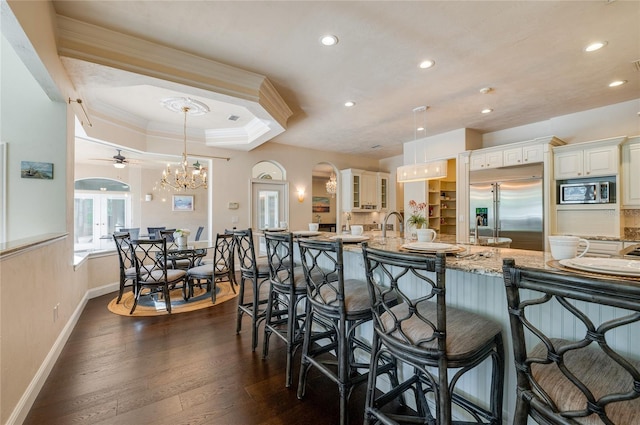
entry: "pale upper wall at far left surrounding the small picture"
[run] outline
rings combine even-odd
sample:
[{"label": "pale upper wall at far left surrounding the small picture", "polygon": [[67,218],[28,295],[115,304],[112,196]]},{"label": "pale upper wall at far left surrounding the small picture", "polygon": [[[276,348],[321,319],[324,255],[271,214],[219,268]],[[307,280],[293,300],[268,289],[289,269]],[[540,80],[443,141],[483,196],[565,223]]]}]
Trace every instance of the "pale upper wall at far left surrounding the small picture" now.
[{"label": "pale upper wall at far left surrounding the small picture", "polygon": [[[66,114],[2,37],[1,140],[7,143],[7,237],[66,231]],[[20,177],[21,161],[53,163],[53,180]]]}]

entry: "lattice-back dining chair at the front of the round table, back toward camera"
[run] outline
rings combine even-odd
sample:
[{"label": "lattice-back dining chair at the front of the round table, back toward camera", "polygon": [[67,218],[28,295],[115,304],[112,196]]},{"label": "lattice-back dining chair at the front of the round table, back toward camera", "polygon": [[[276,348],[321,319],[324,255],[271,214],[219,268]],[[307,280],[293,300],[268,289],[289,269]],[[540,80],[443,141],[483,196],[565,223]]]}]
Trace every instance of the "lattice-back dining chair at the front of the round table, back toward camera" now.
[{"label": "lattice-back dining chair at the front of the round table, back toward camera", "polygon": [[[160,253],[160,255],[156,255]],[[168,269],[162,258],[167,257],[166,239],[140,239],[131,241],[131,255],[136,267],[136,296],[129,314],[133,314],[138,305],[143,289],[145,295],[161,293],[168,313],[171,313],[171,297],[169,291],[182,284],[182,298],[187,300],[185,270]]]}]

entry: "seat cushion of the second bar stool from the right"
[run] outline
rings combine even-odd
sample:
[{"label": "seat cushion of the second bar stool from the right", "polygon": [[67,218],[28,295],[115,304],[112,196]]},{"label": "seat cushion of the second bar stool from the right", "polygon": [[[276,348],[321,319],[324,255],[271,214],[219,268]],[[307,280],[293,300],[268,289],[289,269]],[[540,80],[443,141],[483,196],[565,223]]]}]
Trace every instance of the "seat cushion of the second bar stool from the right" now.
[{"label": "seat cushion of the second bar stool from the right", "polygon": [[[392,307],[391,311],[396,317],[395,320],[389,312],[383,313],[380,318],[384,329],[394,329],[395,322],[398,321],[404,337],[398,330],[393,331],[391,335],[399,342],[409,343],[422,350],[437,350],[437,340],[429,340],[433,336],[433,328],[416,315],[411,315],[408,307],[406,303]],[[418,312],[431,323],[436,323],[435,303],[422,302],[418,304]],[[447,355],[450,358],[455,358],[478,350],[499,334],[502,329],[493,320],[454,307],[447,307],[446,331]]]}]

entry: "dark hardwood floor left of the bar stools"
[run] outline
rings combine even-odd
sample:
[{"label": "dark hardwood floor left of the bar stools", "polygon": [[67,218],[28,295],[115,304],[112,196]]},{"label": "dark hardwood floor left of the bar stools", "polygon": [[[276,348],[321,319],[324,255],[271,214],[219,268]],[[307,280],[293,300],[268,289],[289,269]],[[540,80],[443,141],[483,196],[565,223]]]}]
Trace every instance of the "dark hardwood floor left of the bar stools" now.
[{"label": "dark hardwood floor left of the bar stools", "polygon": [[[337,424],[338,389],[311,370],[303,400],[285,388],[284,344],[262,334],[251,352],[249,319],[236,335],[236,300],[191,313],[123,317],[109,294],[88,302],[25,425]],[[262,328],[261,328],[262,329]],[[350,401],[362,423],[366,384]]]}]

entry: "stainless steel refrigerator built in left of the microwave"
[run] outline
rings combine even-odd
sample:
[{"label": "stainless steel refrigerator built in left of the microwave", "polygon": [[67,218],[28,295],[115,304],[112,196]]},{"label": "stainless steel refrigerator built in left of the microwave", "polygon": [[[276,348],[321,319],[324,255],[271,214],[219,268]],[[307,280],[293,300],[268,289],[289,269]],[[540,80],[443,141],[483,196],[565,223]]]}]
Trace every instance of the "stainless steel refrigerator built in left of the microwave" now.
[{"label": "stainless steel refrigerator built in left of the microwave", "polygon": [[544,250],[542,164],[469,173],[470,235]]}]

